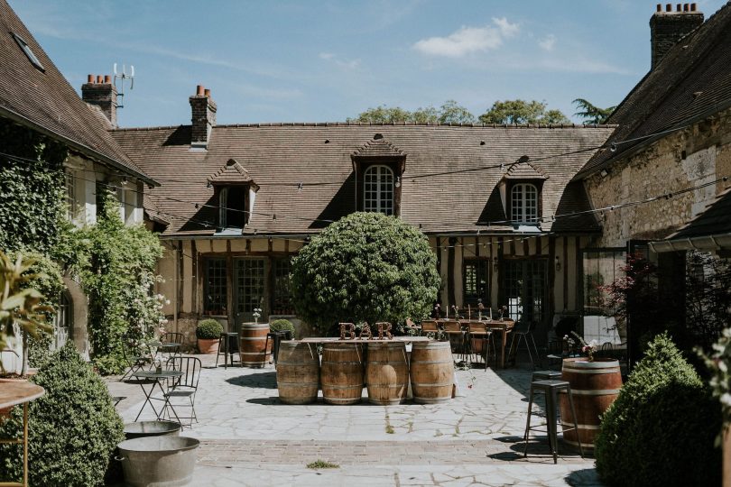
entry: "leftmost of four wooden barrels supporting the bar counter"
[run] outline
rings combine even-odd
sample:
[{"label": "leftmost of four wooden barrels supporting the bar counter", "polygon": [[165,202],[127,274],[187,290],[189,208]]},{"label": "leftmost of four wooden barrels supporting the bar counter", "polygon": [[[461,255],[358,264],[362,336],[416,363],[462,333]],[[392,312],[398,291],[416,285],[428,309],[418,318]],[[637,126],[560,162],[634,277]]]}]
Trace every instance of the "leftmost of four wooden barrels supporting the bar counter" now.
[{"label": "leftmost of four wooden barrels supporting the bar counter", "polygon": [[284,404],[309,404],[318,399],[317,345],[288,341],[279,344],[277,388]]}]

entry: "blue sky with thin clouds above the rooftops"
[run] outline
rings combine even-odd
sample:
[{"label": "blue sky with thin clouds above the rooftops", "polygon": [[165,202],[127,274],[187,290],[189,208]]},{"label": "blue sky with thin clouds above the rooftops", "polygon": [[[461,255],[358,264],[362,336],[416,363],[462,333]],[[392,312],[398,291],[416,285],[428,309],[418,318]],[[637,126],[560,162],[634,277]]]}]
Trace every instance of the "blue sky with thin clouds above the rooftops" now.
[{"label": "blue sky with thin clouds above the rooftops", "polygon": [[[342,122],[369,107],[622,101],[650,66],[647,0],[9,0],[80,91],[134,65],[120,126]],[[706,17],[725,0],[700,0]],[[674,7],[673,7],[674,8]]]}]

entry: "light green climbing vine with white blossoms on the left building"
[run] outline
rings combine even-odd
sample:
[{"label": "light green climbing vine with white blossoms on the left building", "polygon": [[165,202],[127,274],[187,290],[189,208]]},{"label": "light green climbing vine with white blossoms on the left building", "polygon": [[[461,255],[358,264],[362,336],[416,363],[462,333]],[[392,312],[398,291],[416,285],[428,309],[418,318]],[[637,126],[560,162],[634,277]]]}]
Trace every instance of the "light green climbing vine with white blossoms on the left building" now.
[{"label": "light green climbing vine with white blossoms on the left building", "polygon": [[162,245],[143,225],[129,226],[109,192],[97,225],[69,228],[59,253],[74,262],[88,296],[88,335],[99,372],[119,373],[124,360],[125,334],[139,341],[164,324],[161,295],[153,295],[154,275]]}]

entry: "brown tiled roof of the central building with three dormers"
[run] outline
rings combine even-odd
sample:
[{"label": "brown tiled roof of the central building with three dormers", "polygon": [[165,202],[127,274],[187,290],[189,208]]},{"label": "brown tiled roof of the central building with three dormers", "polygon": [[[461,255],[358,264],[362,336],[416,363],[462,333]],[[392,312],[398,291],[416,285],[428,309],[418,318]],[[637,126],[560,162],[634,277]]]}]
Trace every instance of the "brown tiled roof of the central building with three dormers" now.
[{"label": "brown tiled roof of the central building with three dormers", "polygon": [[[355,211],[351,156],[378,146],[376,133],[408,154],[402,178],[402,218],[428,234],[486,230],[509,233],[496,186],[504,166],[523,155],[546,174],[543,215],[588,208],[569,180],[613,127],[267,124],[214,127],[208,152],[190,151],[190,125],[119,129],[111,133],[134,161],[161,182],[145,191],[171,225],[164,234],[213,234],[216,211],[210,174],[227,161],[245,161],[259,185],[245,233],[308,234]],[[383,145],[381,145],[383,147]],[[566,154],[566,155],[561,155]],[[358,182],[362,184],[362,182]],[[198,207],[196,207],[198,205]],[[154,211],[150,208],[150,211]],[[274,217],[276,216],[276,217]],[[495,216],[495,217],[492,217]],[[480,224],[478,224],[480,222]],[[205,227],[208,223],[209,227]],[[560,225],[559,225],[560,224]],[[551,230],[551,223],[542,225]],[[557,231],[597,230],[593,218],[561,218]]]}]

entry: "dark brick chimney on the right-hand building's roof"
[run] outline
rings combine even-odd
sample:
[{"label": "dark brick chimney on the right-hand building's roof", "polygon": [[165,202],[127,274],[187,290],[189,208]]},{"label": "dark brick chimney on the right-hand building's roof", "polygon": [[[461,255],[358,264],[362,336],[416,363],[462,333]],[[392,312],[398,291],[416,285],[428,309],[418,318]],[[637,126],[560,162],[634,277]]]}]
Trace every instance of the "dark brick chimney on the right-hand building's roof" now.
[{"label": "dark brick chimney on the right-hand building's roof", "polygon": [[650,19],[650,43],[652,44],[652,65],[655,69],[662,57],[671,50],[680,38],[703,23],[703,13],[696,10],[696,4],[662,4]]}]

